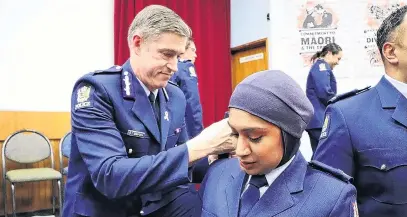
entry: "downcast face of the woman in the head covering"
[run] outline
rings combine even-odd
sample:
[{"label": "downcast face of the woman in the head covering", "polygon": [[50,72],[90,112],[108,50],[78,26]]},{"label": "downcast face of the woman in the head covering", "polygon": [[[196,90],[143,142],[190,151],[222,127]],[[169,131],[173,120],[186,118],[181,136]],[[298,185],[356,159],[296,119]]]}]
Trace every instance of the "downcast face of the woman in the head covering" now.
[{"label": "downcast face of the woman in the head covering", "polygon": [[266,174],[276,168],[284,154],[280,128],[239,109],[229,112],[240,168],[249,175]]}]

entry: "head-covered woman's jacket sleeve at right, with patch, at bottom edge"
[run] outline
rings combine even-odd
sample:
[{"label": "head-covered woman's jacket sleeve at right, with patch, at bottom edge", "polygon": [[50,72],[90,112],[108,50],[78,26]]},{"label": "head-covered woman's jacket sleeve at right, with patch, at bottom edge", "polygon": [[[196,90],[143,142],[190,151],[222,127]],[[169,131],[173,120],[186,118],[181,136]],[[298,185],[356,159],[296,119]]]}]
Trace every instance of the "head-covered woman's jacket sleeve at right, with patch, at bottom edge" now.
[{"label": "head-covered woman's jacket sleeve at right, with patch, at bottom edge", "polygon": [[355,217],[359,216],[359,211],[356,202],[356,188],[348,184],[341,192],[338,200],[332,212],[329,215],[330,217]]}]

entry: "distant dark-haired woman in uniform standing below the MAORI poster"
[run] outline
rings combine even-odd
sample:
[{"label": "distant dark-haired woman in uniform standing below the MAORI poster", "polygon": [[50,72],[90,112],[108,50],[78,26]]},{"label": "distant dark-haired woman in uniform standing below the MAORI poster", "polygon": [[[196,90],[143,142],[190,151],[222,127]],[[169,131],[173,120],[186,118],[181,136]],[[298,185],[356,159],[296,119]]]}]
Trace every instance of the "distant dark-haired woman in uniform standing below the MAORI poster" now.
[{"label": "distant dark-haired woman in uniform standing below the MAORI poster", "polygon": [[341,58],[342,48],[335,43],[325,45],[311,57],[314,64],[308,73],[306,93],[314,107],[314,116],[307,126],[313,152],[318,145],[328,100],[337,93],[336,79],[332,70],[339,64]]}]

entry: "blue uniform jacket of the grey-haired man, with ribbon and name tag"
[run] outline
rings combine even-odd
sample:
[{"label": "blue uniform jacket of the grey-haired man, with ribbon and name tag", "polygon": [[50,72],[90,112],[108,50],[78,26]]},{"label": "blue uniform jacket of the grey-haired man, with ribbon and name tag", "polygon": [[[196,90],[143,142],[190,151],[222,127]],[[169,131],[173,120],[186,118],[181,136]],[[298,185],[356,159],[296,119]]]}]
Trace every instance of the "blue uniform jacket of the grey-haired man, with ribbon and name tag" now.
[{"label": "blue uniform jacket of the grey-haired man, with ribbon and name tag", "polygon": [[157,98],[158,122],[129,62],[77,81],[64,217],[193,215],[185,97],[169,84]]}]

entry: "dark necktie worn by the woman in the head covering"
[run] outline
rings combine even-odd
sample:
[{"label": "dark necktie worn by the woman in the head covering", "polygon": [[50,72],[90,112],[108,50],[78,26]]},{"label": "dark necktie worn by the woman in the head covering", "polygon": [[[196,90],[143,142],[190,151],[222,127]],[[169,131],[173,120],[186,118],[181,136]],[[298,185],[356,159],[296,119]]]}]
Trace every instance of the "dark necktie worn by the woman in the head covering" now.
[{"label": "dark necktie worn by the woman in the head covering", "polygon": [[266,186],[267,184],[267,179],[264,175],[252,176],[249,182],[249,187],[243,192],[242,198],[240,198],[239,217],[245,217],[250,212],[254,204],[260,199],[259,188]]}]

